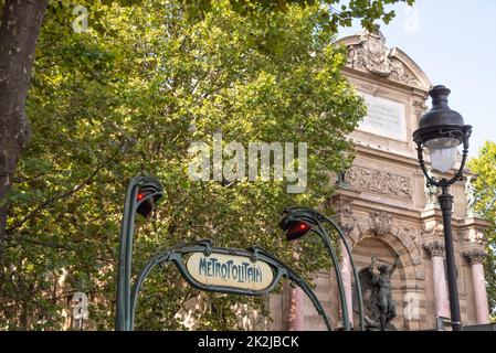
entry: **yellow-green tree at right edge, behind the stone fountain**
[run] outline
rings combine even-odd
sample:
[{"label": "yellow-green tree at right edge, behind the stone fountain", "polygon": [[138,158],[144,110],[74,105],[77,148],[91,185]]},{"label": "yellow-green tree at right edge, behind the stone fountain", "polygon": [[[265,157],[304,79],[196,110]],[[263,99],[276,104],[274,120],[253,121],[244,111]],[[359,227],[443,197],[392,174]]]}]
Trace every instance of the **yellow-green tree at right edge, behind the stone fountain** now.
[{"label": "yellow-green tree at right edge, behind the stone fountain", "polygon": [[468,168],[478,176],[476,211],[482,213],[490,225],[486,232],[487,256],[484,264],[493,319],[496,312],[496,142],[486,141],[477,158],[469,161]]}]

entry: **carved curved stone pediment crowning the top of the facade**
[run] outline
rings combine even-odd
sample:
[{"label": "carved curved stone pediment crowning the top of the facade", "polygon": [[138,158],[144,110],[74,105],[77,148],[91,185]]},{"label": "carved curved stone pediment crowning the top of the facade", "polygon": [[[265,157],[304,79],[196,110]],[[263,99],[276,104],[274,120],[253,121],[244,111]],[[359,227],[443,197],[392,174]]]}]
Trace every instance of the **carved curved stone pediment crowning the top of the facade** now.
[{"label": "carved curved stone pediment crowning the top of the facade", "polygon": [[398,47],[388,49],[381,32],[361,31],[337,42],[348,47],[347,66],[428,90],[425,73]]}]

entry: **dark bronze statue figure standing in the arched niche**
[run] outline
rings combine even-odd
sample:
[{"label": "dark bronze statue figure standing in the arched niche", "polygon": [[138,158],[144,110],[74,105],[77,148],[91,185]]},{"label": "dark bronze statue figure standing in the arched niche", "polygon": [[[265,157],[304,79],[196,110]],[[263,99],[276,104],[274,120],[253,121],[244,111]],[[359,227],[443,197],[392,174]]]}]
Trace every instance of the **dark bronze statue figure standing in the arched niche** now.
[{"label": "dark bronze statue figure standing in the arched niche", "polygon": [[391,320],[397,317],[395,304],[391,298],[391,275],[400,265],[400,258],[397,256],[392,266],[383,264],[376,267],[377,261],[378,258],[372,256],[370,265],[359,272],[367,328],[369,330],[395,331],[391,323]]}]

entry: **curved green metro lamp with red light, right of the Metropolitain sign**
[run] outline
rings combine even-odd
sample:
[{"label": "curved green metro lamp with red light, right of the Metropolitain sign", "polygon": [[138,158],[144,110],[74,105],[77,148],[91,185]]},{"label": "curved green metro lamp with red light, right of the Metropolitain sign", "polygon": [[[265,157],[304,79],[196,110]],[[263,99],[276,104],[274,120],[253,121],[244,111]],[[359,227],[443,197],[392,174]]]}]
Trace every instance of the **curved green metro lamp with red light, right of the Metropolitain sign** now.
[{"label": "curved green metro lamp with red light, right of the Metropolitain sign", "polygon": [[358,278],[358,271],[355,267],[353,259],[351,257],[351,248],[346,240],[345,233],[341,227],[334,222],[331,218],[325,216],[324,214],[307,207],[287,207],[283,212],[283,217],[279,223],[281,229],[286,232],[286,239],[288,242],[297,240],[305,236],[308,232],[313,232],[317,234],[324,242],[327,250],[329,252],[330,258],[334,264],[334,268],[336,271],[336,280],[338,282],[339,289],[339,299],[342,308],[342,325],[345,331],[349,331],[350,322],[348,315],[348,306],[345,295],[345,286],[342,284],[341,270],[339,267],[338,257],[336,255],[336,250],[333,247],[333,243],[330,242],[329,234],[327,229],[324,227],[324,223],[333,226],[338,233],[339,237],[345,245],[345,249],[348,253],[351,268],[353,270],[355,284],[357,287],[357,296],[358,296],[358,306],[359,306],[359,315],[360,315],[360,331],[365,330],[365,317],[363,317],[363,302],[361,297],[361,288],[360,281]]}]

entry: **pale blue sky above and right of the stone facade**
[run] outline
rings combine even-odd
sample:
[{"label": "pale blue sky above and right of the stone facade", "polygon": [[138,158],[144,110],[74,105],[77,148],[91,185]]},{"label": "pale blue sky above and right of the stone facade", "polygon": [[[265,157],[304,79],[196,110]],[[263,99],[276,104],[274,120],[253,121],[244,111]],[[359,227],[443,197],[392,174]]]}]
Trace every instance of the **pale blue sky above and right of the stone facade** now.
[{"label": "pale blue sky above and right of the stone facade", "polygon": [[[468,156],[496,141],[496,1],[416,0],[413,8],[391,6],[397,17],[381,23],[388,47],[398,46],[433,85],[452,90],[450,107],[473,126]],[[341,29],[355,34],[359,22]]]}]

